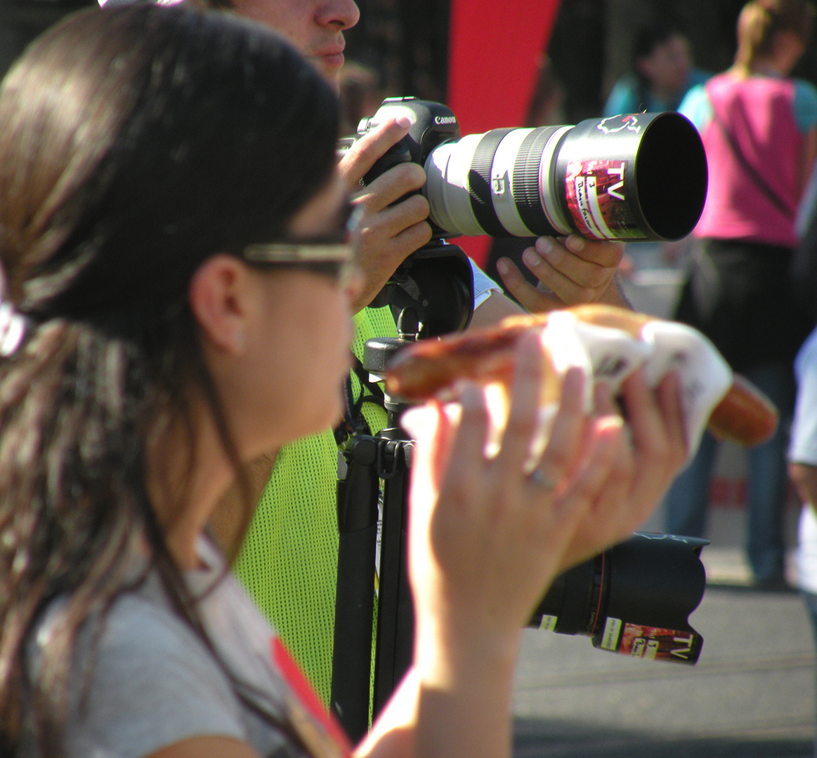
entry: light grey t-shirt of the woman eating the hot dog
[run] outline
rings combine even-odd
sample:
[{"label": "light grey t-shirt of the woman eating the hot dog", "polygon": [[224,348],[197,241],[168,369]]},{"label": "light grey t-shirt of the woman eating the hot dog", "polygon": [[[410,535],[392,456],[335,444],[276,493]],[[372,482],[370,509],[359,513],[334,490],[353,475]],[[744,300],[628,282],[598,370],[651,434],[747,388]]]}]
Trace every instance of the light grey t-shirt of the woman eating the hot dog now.
[{"label": "light grey t-shirt of the woman eating the hot dog", "polygon": [[[260,756],[297,758],[304,751],[279,725],[301,734],[299,725],[308,723],[312,734],[322,733],[306,713],[298,683],[285,679],[273,661],[279,643],[269,623],[232,574],[225,574],[217,551],[202,542],[199,552],[206,568],[185,573],[185,580],[200,598],[199,614],[223,666],[172,610],[158,575],[150,574],[136,591],[120,596],[109,613],[92,659],[87,702],[81,711],[75,698],[72,703],[66,758],[138,758],[202,735],[239,739]],[[48,607],[29,641],[35,671],[64,605],[65,598],[58,598]],[[83,627],[72,695],[83,690],[77,669],[87,663],[91,636]],[[315,754],[339,752],[318,749]],[[22,756],[38,753],[29,743]]]}]

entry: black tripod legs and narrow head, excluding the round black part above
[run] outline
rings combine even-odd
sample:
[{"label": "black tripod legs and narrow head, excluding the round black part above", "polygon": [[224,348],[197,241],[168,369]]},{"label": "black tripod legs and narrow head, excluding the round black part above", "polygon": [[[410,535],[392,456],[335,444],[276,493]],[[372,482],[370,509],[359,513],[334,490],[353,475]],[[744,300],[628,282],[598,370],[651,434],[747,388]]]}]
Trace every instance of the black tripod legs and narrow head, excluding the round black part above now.
[{"label": "black tripod legs and narrow head, excluding the round black part above", "polygon": [[[363,363],[370,374],[382,377],[386,361],[417,339],[416,315],[407,316],[404,311],[398,330],[397,339],[370,339],[366,343]],[[339,542],[331,708],[355,742],[368,730],[370,708],[373,717],[377,716],[408,670],[412,656],[414,614],[405,549],[413,442],[398,423],[406,406],[392,401],[388,395],[385,406],[386,428],[373,437],[355,437],[338,467]],[[379,565],[377,597],[376,565]],[[375,618],[377,636],[373,641]],[[374,677],[370,688],[373,654]]]}]

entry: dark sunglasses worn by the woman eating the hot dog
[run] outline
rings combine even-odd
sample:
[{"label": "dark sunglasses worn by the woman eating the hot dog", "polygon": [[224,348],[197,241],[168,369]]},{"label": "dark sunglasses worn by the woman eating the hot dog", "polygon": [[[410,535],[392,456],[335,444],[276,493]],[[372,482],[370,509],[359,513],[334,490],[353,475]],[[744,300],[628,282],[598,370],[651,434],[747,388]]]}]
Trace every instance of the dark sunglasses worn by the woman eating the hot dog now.
[{"label": "dark sunglasses worn by the woman eating the hot dog", "polygon": [[346,286],[358,266],[358,242],[362,206],[348,203],[337,231],[319,237],[283,238],[264,245],[249,245],[241,252],[248,264],[300,268],[322,274]]}]

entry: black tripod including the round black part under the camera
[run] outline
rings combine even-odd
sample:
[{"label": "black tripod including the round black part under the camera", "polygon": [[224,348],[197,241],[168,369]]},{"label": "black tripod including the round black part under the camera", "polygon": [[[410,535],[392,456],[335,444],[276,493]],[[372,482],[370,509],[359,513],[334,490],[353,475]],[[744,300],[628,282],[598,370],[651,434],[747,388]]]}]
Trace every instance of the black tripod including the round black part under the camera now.
[{"label": "black tripod including the round black part under the camera", "polygon": [[[388,304],[393,313],[400,311],[399,336],[369,339],[364,348],[364,370],[379,380],[386,361],[421,336],[421,321],[423,337],[468,326],[474,307],[474,274],[467,255],[458,246],[432,240],[400,265],[377,303],[378,307]],[[405,543],[413,442],[400,428],[404,404],[387,395],[384,400],[386,428],[375,436],[356,436],[338,464],[339,543],[330,708],[353,741],[366,734],[369,712],[377,716],[412,656],[414,614]],[[373,641],[375,618],[377,638]]]}]

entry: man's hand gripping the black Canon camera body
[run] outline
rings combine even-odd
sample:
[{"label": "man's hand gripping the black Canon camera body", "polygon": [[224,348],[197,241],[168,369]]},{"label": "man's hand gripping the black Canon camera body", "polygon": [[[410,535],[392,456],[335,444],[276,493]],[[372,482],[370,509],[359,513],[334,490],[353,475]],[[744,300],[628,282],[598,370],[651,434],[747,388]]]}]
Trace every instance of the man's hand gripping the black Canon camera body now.
[{"label": "man's hand gripping the black Canon camera body", "polygon": [[431,226],[426,222],[426,198],[411,194],[400,200],[426,184],[426,172],[422,166],[400,163],[366,187],[359,186],[359,181],[374,162],[408,134],[409,126],[411,124],[404,116],[383,122],[357,140],[339,165],[354,202],[366,208],[360,233],[360,268],[364,286],[351,304],[355,313],[372,302],[408,255],[431,239]]}]

